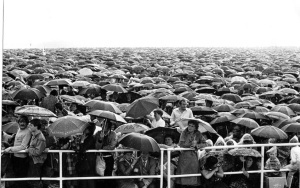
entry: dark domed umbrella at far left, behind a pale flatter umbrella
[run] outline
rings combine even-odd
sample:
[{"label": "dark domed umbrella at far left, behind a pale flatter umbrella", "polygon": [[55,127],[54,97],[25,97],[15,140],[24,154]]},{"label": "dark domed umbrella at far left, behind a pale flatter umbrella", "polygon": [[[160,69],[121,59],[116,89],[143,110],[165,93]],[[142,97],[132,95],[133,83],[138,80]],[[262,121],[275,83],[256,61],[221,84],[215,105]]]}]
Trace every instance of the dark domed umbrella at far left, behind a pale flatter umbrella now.
[{"label": "dark domed umbrella at far left, behind a pale flatter umbrella", "polygon": [[21,100],[39,99],[43,96],[44,94],[42,94],[38,89],[35,88],[23,88],[15,91],[12,94],[13,99],[21,99]]}]

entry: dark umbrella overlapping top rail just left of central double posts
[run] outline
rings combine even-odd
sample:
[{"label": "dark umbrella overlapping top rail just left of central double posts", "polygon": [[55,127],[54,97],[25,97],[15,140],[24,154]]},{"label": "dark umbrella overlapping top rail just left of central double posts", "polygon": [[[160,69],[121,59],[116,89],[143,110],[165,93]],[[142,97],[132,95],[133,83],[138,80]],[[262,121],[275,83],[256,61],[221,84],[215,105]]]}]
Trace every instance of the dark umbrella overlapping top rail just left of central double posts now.
[{"label": "dark umbrella overlapping top rail just left of central double posts", "polygon": [[125,147],[140,150],[142,152],[159,152],[157,142],[150,136],[140,133],[129,133],[119,139],[119,143]]}]

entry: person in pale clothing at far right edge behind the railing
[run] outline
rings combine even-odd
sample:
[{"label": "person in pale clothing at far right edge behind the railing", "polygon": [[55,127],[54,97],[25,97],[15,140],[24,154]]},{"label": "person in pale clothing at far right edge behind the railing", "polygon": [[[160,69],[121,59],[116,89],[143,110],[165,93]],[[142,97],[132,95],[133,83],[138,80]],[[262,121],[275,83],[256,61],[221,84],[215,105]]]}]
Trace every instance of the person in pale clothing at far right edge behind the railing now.
[{"label": "person in pale clothing at far right edge behind the railing", "polygon": [[[298,137],[294,136],[290,140],[290,143],[299,143]],[[288,173],[288,177],[287,177],[288,188],[290,188],[292,185],[294,174],[300,169],[300,147],[298,145],[292,147],[290,156],[291,156],[290,164],[284,167],[285,169],[291,170]]]}]

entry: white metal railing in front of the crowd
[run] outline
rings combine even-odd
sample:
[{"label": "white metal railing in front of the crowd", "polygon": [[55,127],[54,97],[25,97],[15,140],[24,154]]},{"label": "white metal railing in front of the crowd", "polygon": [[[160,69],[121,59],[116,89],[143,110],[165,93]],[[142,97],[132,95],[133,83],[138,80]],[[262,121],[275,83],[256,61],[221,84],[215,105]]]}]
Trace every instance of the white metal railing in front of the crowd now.
[{"label": "white metal railing in front of the crowd", "polygon": [[[253,147],[261,147],[261,169],[257,171],[247,171],[248,173],[260,173],[261,174],[261,182],[260,188],[264,187],[263,178],[265,172],[277,172],[275,170],[264,170],[264,151],[265,147],[272,147],[272,146],[297,146],[300,143],[283,143],[283,144],[252,144],[252,145],[237,145],[237,146],[213,146],[213,147],[205,147],[204,150],[211,150],[211,149],[226,149],[226,148],[253,148]],[[172,151],[183,151],[183,150],[191,150],[189,148],[168,148],[168,149],[161,149],[161,156],[163,156],[163,152],[167,151],[168,155],[168,164],[171,161],[171,152]],[[89,150],[87,152],[124,152],[124,151],[136,151],[136,150],[129,150],[129,149],[117,149],[117,150]],[[21,151],[24,152],[24,151]],[[137,179],[137,178],[159,178],[160,179],[160,188],[163,187],[163,157],[160,158],[160,175],[147,175],[147,176],[95,176],[95,177],[63,177],[63,168],[62,168],[62,154],[63,153],[74,153],[73,150],[49,150],[48,153],[59,153],[59,177],[42,177],[41,180],[54,180],[59,181],[60,187],[63,187],[64,180],[91,180],[91,179]],[[2,153],[2,151],[1,151]],[[201,174],[182,174],[182,175],[171,175],[171,165],[167,165],[167,182],[168,188],[171,188],[171,178],[179,178],[179,177],[194,177],[194,176],[201,176]],[[300,166],[299,166],[300,168]],[[280,171],[289,171],[288,169],[280,169]],[[230,174],[242,174],[243,172],[224,172],[224,175]],[[26,180],[40,180],[40,178],[1,178],[2,181],[26,181]],[[299,175],[300,180],[300,175]],[[299,181],[300,187],[300,181]]]}]

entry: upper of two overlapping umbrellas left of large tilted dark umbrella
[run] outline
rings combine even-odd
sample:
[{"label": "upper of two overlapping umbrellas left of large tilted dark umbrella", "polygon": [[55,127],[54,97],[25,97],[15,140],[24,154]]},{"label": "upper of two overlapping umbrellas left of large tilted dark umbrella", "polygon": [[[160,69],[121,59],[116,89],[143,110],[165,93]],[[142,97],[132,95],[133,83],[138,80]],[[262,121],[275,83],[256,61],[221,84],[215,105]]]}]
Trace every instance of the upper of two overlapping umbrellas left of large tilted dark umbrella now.
[{"label": "upper of two overlapping umbrellas left of large tilted dark umbrella", "polygon": [[105,101],[99,101],[99,100],[90,100],[87,103],[84,104],[84,106],[88,106],[91,108],[91,111],[93,110],[106,110],[110,111],[116,114],[121,114],[122,111],[113,103],[111,102],[105,102]]}]

